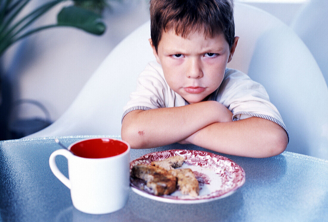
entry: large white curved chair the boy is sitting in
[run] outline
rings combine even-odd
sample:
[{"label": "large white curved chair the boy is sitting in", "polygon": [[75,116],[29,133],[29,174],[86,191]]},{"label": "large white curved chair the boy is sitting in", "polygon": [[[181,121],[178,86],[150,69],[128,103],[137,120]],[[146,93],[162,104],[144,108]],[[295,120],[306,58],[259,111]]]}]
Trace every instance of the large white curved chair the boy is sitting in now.
[{"label": "large white curved chair the boy is sitting in", "polygon": [[[328,149],[327,86],[311,53],[289,27],[257,8],[236,4],[235,23],[240,40],[229,67],[267,88],[290,133],[287,150],[328,159],[322,154]],[[139,72],[154,60],[149,37],[147,22],[108,55],[57,121],[28,137],[119,135],[122,108]]]}]

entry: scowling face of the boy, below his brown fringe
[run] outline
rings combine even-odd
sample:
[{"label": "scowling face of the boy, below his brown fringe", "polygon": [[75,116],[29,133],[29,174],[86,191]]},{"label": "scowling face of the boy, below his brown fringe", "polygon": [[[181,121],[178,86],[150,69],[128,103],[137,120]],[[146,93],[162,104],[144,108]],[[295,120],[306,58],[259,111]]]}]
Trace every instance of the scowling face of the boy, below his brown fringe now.
[{"label": "scowling face of the boy, below his brown fringe", "polygon": [[220,86],[238,37],[231,49],[223,34],[205,38],[202,32],[193,32],[183,38],[174,31],[163,32],[157,52],[149,41],[170,88],[193,104]]}]

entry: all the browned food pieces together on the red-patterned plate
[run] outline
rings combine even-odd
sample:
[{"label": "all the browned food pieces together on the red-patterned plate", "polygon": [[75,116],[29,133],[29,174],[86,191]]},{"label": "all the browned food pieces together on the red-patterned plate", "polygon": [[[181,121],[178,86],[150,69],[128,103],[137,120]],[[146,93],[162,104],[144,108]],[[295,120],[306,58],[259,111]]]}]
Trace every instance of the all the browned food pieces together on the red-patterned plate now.
[{"label": "all the browned food pieces together on the red-patterned plate", "polygon": [[175,169],[181,167],[184,160],[185,158],[182,156],[172,156],[164,160],[153,161],[151,165],[138,164],[132,168],[131,176],[145,181],[139,188],[156,196],[169,195],[176,189],[184,195],[198,196],[199,184],[193,171],[191,169]]}]

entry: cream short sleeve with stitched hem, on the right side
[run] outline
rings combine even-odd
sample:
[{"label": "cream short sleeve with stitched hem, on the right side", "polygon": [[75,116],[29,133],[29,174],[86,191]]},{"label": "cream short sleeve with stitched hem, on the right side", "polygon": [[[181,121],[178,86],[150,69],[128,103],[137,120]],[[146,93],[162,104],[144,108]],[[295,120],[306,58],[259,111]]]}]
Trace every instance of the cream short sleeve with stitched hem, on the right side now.
[{"label": "cream short sleeve with stitched hem, on the right side", "polygon": [[233,121],[260,117],[277,123],[289,134],[277,108],[264,87],[241,71],[227,69],[216,101],[233,113]]}]

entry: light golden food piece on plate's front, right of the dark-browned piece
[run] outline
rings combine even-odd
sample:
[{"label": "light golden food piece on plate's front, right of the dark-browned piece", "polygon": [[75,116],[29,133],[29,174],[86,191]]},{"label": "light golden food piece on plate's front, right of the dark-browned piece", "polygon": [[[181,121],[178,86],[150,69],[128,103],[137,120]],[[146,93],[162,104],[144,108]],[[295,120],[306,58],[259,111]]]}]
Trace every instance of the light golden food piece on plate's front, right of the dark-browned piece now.
[{"label": "light golden food piece on plate's front, right of the dark-browned piece", "polygon": [[198,196],[199,184],[191,169],[174,169],[169,173],[178,179],[178,189],[184,195]]}]

